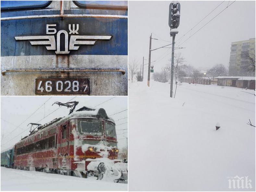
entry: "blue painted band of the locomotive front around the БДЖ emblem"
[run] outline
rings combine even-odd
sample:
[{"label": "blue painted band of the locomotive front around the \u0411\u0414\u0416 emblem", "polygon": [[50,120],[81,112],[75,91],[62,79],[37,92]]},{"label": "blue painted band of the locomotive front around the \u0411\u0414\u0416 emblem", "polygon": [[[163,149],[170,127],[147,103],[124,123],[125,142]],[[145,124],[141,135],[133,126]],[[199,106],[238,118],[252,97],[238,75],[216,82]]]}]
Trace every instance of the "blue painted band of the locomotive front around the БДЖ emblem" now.
[{"label": "blue painted band of the locomotive front around the \u0411\u0414\u0416 emblem", "polygon": [[[88,10],[65,10],[65,14],[87,14]],[[114,10],[100,10],[113,12]],[[3,12],[1,17],[21,16],[29,11]],[[30,11],[32,15],[59,14],[59,11]],[[120,11],[127,15],[127,11]],[[93,14],[98,14],[93,12]],[[116,18],[39,18],[1,21],[1,56],[19,55],[55,55],[45,46],[31,46],[28,41],[15,40],[15,36],[46,35],[46,24],[56,24],[57,31],[68,30],[68,24],[79,24],[79,35],[111,35],[109,41],[98,40],[95,45],[81,45],[72,55],[127,55],[128,54],[128,20]],[[70,36],[69,36],[70,38]],[[56,34],[55,34],[56,39]]]}]

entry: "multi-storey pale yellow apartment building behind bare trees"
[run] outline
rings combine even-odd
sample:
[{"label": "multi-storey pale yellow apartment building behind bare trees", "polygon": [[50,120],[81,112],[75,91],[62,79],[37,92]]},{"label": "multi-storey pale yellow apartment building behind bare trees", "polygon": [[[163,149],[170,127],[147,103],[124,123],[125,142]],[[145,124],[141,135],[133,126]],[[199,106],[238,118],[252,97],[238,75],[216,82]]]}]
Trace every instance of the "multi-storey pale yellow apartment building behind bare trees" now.
[{"label": "multi-storey pale yellow apartment building behind bare trees", "polygon": [[[255,53],[255,38],[249,40],[232,42],[230,48],[230,58],[229,58],[229,75],[243,75],[248,76],[243,71],[245,58],[241,58],[241,53],[243,51],[251,51]],[[254,71],[255,74],[255,71]],[[250,75],[254,75],[253,73]]]}]

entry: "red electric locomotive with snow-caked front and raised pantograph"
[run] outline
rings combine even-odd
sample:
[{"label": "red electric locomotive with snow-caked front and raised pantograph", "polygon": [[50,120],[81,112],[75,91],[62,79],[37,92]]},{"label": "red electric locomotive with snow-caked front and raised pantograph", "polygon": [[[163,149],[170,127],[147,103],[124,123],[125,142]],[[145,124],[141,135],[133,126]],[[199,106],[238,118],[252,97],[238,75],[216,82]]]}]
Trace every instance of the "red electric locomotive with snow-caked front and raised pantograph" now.
[{"label": "red electric locomotive with snow-caked front and raised pantograph", "polygon": [[117,159],[115,122],[105,110],[73,112],[78,102],[55,103],[71,108],[70,114],[45,125],[31,123],[30,135],[15,144],[14,168],[127,180],[127,163]]}]

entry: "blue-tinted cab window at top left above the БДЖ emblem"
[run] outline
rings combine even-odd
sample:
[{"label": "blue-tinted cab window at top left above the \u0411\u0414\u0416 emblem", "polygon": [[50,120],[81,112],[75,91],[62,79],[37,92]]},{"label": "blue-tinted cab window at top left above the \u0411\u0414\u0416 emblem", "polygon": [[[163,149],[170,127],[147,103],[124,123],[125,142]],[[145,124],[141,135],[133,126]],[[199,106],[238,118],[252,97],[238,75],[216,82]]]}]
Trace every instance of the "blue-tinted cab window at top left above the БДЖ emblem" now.
[{"label": "blue-tinted cab window at top left above the \u0411\u0414\u0416 emblem", "polygon": [[1,1],[1,11],[42,9],[51,3],[52,1]]}]

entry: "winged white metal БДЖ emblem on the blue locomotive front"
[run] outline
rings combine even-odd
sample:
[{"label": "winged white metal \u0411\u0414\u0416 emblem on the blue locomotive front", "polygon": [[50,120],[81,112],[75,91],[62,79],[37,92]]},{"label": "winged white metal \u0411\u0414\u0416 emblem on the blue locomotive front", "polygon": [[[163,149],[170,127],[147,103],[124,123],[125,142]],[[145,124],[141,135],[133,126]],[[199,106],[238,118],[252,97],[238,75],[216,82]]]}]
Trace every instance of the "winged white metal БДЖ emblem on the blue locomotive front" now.
[{"label": "winged white metal \u0411\u0414\u0416 emblem on the blue locomotive front", "polygon": [[[56,50],[55,54],[69,54],[70,50],[78,50],[80,45],[94,45],[97,40],[110,40],[112,36],[78,35],[79,24],[68,24],[69,33],[66,30],[57,30],[56,24],[46,24],[46,35],[14,37],[16,41],[29,41],[31,45],[44,45],[47,50]],[[55,41],[55,33],[57,32]],[[65,35],[65,51],[60,50],[60,35]],[[70,39],[68,42],[68,35]],[[75,46],[76,45],[76,46]]]}]

